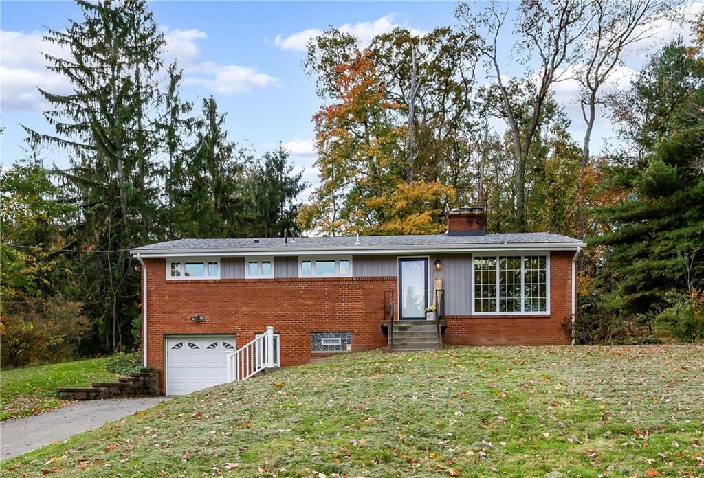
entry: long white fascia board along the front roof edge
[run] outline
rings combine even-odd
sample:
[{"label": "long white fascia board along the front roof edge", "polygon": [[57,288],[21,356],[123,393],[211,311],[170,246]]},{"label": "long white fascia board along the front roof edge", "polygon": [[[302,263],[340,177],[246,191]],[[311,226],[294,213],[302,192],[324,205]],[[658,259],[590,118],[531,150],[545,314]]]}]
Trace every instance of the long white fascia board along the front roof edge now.
[{"label": "long white fascia board along the front roof edge", "polygon": [[484,252],[484,251],[576,251],[585,247],[585,243],[512,243],[512,244],[442,244],[432,246],[396,246],[396,247],[351,247],[348,249],[185,249],[185,250],[132,250],[132,255],[144,258],[162,257],[242,257],[242,256],[325,256],[325,255],[368,255],[368,254],[443,254],[448,252]]}]

